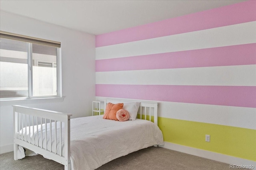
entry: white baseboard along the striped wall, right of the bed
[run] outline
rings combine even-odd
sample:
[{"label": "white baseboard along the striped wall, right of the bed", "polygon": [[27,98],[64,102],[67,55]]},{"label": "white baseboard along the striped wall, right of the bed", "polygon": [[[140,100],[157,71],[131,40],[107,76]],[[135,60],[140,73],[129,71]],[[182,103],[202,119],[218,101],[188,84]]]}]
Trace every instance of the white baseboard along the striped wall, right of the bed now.
[{"label": "white baseboard along the striped wall, right of the bed", "polygon": [[226,164],[230,164],[230,165],[236,165],[236,166],[241,166],[241,165],[252,165],[251,168],[252,170],[256,170],[256,162],[252,161],[252,160],[247,160],[247,159],[242,159],[242,158],[237,158],[234,156],[228,156],[225,154],[220,154],[220,153],[216,153],[216,152],[210,152],[207,150],[202,150],[202,149],[196,149],[196,148],[192,148],[192,147],[186,147],[183,145],[178,145],[175,143],[170,143],[170,142],[164,142],[164,145],[158,145],[159,147],[163,147],[166,149],[170,149],[170,150],[175,150],[178,152],[183,152],[186,154],[192,154],[195,156],[199,156],[202,158],[207,158],[207,159],[211,159],[211,160],[216,160],[218,162],[224,162]]}]

